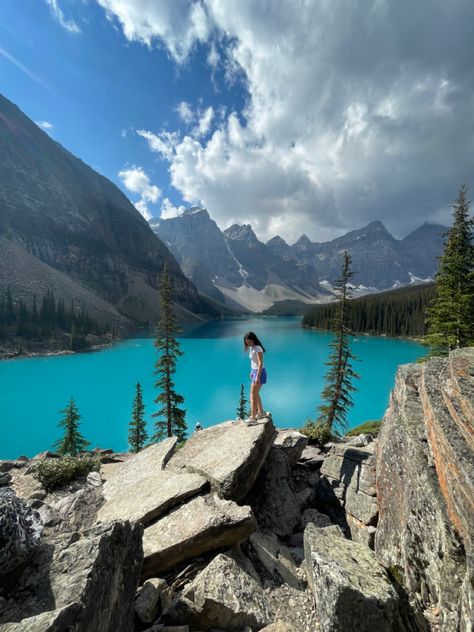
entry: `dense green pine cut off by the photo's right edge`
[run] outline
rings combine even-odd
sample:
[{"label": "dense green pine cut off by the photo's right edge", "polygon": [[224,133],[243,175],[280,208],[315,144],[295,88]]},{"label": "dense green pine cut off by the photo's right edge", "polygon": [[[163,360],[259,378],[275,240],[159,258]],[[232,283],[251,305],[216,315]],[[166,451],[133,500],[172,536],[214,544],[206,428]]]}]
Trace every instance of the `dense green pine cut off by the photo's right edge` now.
[{"label": "dense green pine cut off by the photo's right edge", "polygon": [[435,275],[436,292],[427,310],[424,342],[432,355],[474,343],[474,220],[463,185],[453,206],[453,225]]}]

